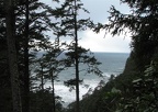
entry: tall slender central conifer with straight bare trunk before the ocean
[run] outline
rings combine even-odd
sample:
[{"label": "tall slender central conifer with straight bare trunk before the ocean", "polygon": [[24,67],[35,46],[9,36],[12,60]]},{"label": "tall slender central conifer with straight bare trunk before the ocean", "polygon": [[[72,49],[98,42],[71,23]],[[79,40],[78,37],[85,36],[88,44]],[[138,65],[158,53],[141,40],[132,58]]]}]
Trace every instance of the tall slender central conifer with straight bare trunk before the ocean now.
[{"label": "tall slender central conifer with straight bare trunk before the ocean", "polygon": [[[83,31],[88,26],[92,25],[92,22],[90,19],[81,19],[77,20],[78,11],[83,10],[84,12],[88,12],[84,8],[82,8],[82,3],[80,0],[65,0],[65,2],[61,4],[61,8],[57,9],[57,12],[60,14],[57,14],[56,18],[60,19],[60,27],[57,30],[56,34],[58,36],[70,36],[72,37],[74,43],[74,55],[75,55],[75,69],[76,69],[76,112],[80,112],[80,105],[79,105],[79,51],[78,51],[78,31]],[[89,12],[88,12],[89,13]]]}]

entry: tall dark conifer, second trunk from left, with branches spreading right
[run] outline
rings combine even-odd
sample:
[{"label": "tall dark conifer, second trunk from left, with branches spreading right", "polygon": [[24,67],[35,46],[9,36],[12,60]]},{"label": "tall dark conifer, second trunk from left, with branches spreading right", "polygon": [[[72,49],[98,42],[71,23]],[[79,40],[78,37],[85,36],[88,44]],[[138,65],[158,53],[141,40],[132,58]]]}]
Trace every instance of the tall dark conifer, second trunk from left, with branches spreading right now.
[{"label": "tall dark conifer, second trunk from left, with branches spreading right", "polygon": [[26,112],[30,110],[31,61],[34,60],[35,54],[38,51],[50,46],[49,36],[44,33],[50,31],[55,25],[49,19],[53,15],[49,10],[52,9],[48,5],[38,0],[21,1],[18,5],[16,46],[22,77],[23,110]]}]

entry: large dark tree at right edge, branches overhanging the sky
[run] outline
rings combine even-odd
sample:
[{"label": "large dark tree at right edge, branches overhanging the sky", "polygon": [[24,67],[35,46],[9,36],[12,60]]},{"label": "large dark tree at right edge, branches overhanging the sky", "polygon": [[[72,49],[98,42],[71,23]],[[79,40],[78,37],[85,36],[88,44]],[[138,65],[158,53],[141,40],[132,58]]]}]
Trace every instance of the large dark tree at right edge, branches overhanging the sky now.
[{"label": "large dark tree at right edge, branches overhanging the sky", "polygon": [[125,29],[132,33],[131,58],[135,59],[136,72],[133,72],[135,77],[132,78],[133,81],[128,83],[128,88],[125,86],[131,96],[123,96],[117,111],[156,112],[158,93],[155,89],[157,88],[158,70],[157,60],[154,58],[158,52],[158,1],[121,0],[121,2],[126,3],[132,13],[123,14],[112,7],[110,23],[104,25],[99,23],[94,29],[97,32],[105,29],[113,35],[124,32]]}]

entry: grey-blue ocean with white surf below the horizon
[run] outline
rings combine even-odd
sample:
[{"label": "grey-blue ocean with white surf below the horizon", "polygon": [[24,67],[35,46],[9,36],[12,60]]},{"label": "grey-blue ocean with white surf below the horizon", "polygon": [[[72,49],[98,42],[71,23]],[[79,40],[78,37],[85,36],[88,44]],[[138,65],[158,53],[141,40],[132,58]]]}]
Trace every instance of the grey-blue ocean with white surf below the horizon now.
[{"label": "grey-blue ocean with white surf below the horizon", "polygon": [[[129,56],[128,53],[94,53],[93,55],[102,63],[99,69],[103,72],[103,77],[80,72],[80,79],[83,80],[83,85],[80,85],[80,99],[82,99],[82,96],[86,94],[89,89],[94,90],[101,80],[106,82],[111,75],[120,75],[124,70],[126,59]],[[80,69],[84,67],[83,65],[79,66]],[[55,93],[61,97],[61,100],[65,102],[64,107],[67,107],[67,104],[76,100],[76,91],[70,91],[69,87],[64,86],[64,81],[71,78],[75,78],[75,68],[61,71],[58,77],[60,81],[55,81]],[[49,86],[50,83],[47,82],[47,87]]]}]

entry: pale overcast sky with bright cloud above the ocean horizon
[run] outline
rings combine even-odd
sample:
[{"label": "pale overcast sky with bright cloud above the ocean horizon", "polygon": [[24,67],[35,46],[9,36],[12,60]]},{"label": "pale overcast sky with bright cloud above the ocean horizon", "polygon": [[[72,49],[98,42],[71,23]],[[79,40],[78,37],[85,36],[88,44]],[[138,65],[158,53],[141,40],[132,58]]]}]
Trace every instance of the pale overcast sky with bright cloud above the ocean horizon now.
[{"label": "pale overcast sky with bright cloud above the ocean horizon", "polygon": [[[48,4],[53,3],[52,0],[42,0]],[[83,7],[90,11],[90,14],[80,13],[79,18],[91,18],[95,23],[106,23],[111,5],[114,5],[123,13],[128,13],[129,9],[126,4],[122,4],[120,0],[81,0]],[[90,48],[92,52],[115,52],[115,53],[129,53],[129,34],[124,36],[112,37],[108,34],[104,37],[105,31],[99,34],[93,33],[88,30],[84,32],[79,32],[79,44],[86,48]]]}]

